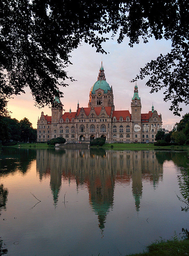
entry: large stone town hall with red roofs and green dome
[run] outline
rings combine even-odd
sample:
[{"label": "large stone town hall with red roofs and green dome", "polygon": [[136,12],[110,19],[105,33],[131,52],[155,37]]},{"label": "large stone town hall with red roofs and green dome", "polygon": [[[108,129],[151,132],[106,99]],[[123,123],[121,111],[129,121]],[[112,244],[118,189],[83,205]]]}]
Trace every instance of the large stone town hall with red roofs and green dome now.
[{"label": "large stone town hall with red roofs and green dome", "polygon": [[[59,98],[55,98],[60,103]],[[157,111],[141,113],[141,101],[138,86],[134,86],[134,95],[129,110],[115,110],[112,86],[106,82],[104,68],[101,65],[98,80],[89,93],[88,108],[79,108],[76,112],[63,114],[63,109],[52,108],[52,116],[44,115],[37,122],[37,141],[48,141],[63,137],[67,141],[93,140],[103,137],[109,142],[155,142],[155,134],[162,126],[162,116]]]}]

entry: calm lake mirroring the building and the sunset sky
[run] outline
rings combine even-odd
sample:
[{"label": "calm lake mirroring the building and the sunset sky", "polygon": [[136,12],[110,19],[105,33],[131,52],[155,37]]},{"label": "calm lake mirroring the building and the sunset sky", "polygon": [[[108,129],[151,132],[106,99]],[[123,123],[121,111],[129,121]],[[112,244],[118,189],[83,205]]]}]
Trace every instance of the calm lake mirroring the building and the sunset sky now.
[{"label": "calm lake mirroring the building and the sunset sky", "polygon": [[177,198],[177,176],[188,156],[3,148],[0,255],[118,256],[179,236],[188,214]]}]

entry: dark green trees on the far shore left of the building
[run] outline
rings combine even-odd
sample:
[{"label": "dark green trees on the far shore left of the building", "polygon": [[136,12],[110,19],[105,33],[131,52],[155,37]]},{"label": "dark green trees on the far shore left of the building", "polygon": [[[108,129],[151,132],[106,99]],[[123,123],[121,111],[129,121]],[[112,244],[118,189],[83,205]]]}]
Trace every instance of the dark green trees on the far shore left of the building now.
[{"label": "dark green trees on the far shore left of the building", "polygon": [[11,141],[33,142],[37,140],[37,129],[24,117],[18,121],[16,118],[0,116],[0,142],[4,145]]}]

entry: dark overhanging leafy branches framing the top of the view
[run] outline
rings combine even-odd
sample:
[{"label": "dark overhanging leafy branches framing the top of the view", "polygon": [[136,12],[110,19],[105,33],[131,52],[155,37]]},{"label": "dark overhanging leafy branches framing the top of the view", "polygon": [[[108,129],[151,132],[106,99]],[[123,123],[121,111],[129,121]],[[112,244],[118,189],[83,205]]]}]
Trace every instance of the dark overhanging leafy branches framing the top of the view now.
[{"label": "dark overhanging leafy branches framing the top of the view", "polygon": [[171,40],[166,55],[151,60],[136,79],[150,76],[151,92],[165,89],[164,100],[172,100],[170,110],[180,115],[180,102],[189,104],[189,2],[186,0],[29,1],[0,2],[0,98],[24,92],[28,86],[36,104],[54,104],[62,96],[59,86],[70,78],[65,68],[70,53],[81,41],[106,53],[102,42],[107,33],[125,36],[129,45]]}]

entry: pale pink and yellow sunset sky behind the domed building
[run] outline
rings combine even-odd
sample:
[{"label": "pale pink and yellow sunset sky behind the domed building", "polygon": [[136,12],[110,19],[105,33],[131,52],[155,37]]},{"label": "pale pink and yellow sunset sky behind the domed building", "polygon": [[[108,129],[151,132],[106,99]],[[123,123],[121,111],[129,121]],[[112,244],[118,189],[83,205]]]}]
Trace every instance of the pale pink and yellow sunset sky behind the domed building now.
[{"label": "pale pink and yellow sunset sky behind the domed building", "polygon": [[[61,99],[64,109],[76,111],[77,102],[79,107],[87,107],[89,101],[89,92],[93,84],[97,81],[97,76],[101,64],[103,62],[106,81],[112,85],[114,94],[115,110],[127,110],[131,113],[131,98],[133,97],[134,84],[130,81],[139,73],[140,68],[151,61],[155,60],[160,53],[166,54],[171,49],[171,42],[165,40],[156,41],[154,38],[149,39],[149,43],[135,44],[133,48],[128,45],[126,38],[122,44],[117,44],[116,39],[108,40],[102,46],[109,54],[96,53],[86,43],[82,43],[76,50],[72,52],[71,61],[73,65],[67,68],[68,75],[73,76],[77,81],[70,82],[68,87],[62,87],[60,90],[64,92],[64,98]],[[174,116],[169,110],[170,102],[163,101],[163,91],[150,94],[150,87],[145,85],[145,80],[138,81],[139,97],[142,104],[142,113],[151,110],[152,102],[158,114],[162,114],[163,125],[173,125],[180,120],[181,117]],[[14,97],[8,103],[8,109],[12,112],[11,117],[21,120],[27,117],[37,127],[38,116],[41,111],[51,116],[51,109],[48,107],[39,109],[34,106],[34,100],[30,90],[26,88],[26,94]],[[184,104],[181,116],[189,111]],[[166,127],[165,127],[166,128]]]}]

